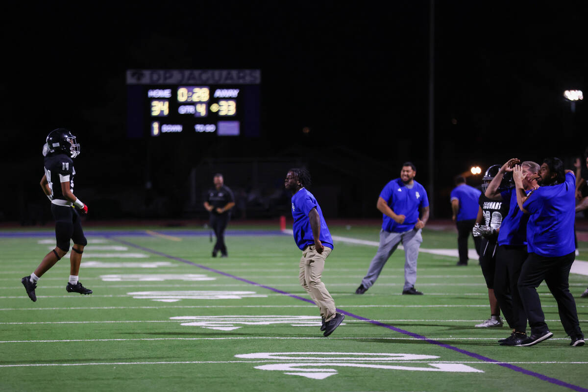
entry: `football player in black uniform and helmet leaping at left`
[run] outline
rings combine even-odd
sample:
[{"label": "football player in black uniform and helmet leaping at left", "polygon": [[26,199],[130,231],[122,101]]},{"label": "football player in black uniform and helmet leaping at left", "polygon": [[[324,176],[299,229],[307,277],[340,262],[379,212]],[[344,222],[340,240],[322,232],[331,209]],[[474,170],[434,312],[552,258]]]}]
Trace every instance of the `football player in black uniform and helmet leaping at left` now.
[{"label": "football player in black uniform and helmet leaping at left", "polygon": [[[55,238],[57,246],[43,258],[41,264],[30,275],[21,279],[26,293],[32,301],[36,301],[36,283],[45,272],[68,253],[69,240],[74,246],[69,256],[69,282],[65,289],[69,293],[92,294],[78,280],[79,264],[82,261],[83,247],[88,243],[83,235],[82,224],[78,211],[88,213],[88,206],[74,196],[74,161],[80,153],[76,138],[67,129],[53,130],[46,139],[43,148],[45,155],[45,175],[41,179],[41,188],[51,200],[51,213],[55,218]],[[76,209],[74,208],[76,207]]]}]

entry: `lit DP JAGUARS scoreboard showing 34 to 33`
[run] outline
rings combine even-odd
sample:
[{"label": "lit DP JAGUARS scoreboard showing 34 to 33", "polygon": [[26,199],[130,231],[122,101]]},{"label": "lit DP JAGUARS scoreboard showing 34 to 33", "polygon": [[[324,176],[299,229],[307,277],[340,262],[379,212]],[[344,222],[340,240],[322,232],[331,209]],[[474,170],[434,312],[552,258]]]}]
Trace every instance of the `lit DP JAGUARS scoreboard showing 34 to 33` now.
[{"label": "lit DP JAGUARS scoreboard showing 34 to 33", "polygon": [[259,69],[128,70],[128,136],[260,136],[260,82]]}]

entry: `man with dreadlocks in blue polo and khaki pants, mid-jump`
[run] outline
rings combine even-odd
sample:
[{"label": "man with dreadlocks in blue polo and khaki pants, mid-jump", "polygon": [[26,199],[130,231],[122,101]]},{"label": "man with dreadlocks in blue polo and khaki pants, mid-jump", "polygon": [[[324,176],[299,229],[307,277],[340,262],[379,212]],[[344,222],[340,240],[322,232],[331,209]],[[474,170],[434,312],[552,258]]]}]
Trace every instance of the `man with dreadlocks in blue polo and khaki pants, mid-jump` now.
[{"label": "man with dreadlocks in blue polo and khaki pants, mid-jump", "polygon": [[294,240],[302,250],[300,259],[300,285],[320,309],[323,319],[321,331],[329,336],[345,319],[336,312],[335,301],[320,278],[325,260],[333,250],[333,239],[315,196],[306,190],[310,186],[310,173],[306,169],[290,169],[284,183],[292,192],[292,229]]}]

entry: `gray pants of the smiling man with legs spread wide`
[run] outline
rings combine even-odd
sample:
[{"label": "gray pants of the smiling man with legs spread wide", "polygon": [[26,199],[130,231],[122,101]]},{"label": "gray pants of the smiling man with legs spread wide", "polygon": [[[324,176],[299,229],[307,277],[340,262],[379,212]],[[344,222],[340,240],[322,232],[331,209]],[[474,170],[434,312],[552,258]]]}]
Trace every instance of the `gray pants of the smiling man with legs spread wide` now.
[{"label": "gray pants of the smiling man with legs spread wide", "polygon": [[377,248],[376,256],[369,264],[368,273],[362,280],[363,287],[369,289],[376,282],[382,272],[384,264],[392,253],[402,242],[405,249],[405,285],[403,290],[415,286],[416,282],[416,260],[419,258],[420,243],[423,242],[422,229],[409,230],[403,233],[389,233],[380,231],[380,245]]}]

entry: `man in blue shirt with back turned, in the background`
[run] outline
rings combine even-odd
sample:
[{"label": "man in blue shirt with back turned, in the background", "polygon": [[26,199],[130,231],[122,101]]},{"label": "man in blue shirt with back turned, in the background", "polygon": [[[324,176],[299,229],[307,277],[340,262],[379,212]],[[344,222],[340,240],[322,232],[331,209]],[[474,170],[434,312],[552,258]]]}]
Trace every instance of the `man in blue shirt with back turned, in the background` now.
[{"label": "man in blue shirt with back turned, in the background", "polygon": [[[457,251],[459,252],[458,266],[467,266],[467,239],[472,235],[472,229],[476,224],[478,212],[478,200],[482,192],[473,186],[466,184],[463,176],[455,179],[456,187],[451,191],[450,201],[453,210],[452,219],[457,225]],[[480,254],[480,237],[473,237],[476,253]]]}]

